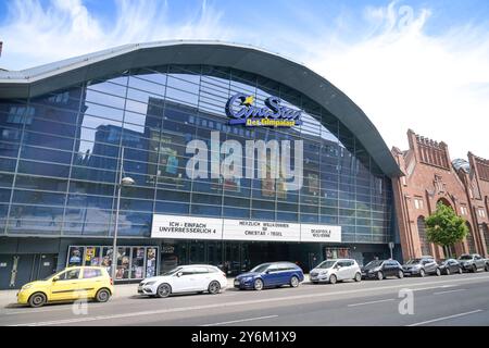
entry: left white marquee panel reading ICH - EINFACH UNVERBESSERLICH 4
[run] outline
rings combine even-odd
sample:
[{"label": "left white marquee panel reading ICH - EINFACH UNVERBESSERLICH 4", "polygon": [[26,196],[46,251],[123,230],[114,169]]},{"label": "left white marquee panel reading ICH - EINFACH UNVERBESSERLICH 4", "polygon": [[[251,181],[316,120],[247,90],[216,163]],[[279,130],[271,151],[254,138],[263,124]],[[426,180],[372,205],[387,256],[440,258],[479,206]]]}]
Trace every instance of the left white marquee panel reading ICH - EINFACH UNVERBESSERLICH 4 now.
[{"label": "left white marquee panel reading ICH - EINFACH UNVERBESSERLICH 4", "polygon": [[223,220],[153,215],[152,238],[223,239]]}]

